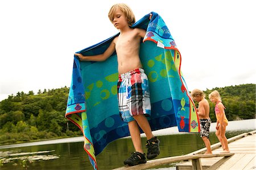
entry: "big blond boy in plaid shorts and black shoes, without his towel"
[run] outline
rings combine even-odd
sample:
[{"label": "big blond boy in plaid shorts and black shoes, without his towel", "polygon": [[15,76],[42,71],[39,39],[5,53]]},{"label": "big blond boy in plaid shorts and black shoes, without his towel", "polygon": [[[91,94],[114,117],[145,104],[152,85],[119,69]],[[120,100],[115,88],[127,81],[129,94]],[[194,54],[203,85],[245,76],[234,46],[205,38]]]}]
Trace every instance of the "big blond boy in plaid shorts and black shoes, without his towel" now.
[{"label": "big blond boy in plaid shorts and black shoes, without his towel", "polygon": [[144,38],[146,31],[130,27],[135,23],[135,16],[130,7],[123,3],[112,6],[109,11],[109,19],[114,27],[120,31],[120,34],[113,39],[108,49],[104,53],[95,56],[83,56],[80,53],[75,53],[75,55],[81,61],[104,61],[114,51],[117,53],[119,112],[123,121],[128,122],[131,140],[135,148],[135,152],[123,163],[125,165],[146,163],[139,127],[147,136],[147,159],[153,159],[160,153],[160,141],[152,134],[146,118],[151,114],[150,92],[147,75],[144,73],[139,58],[141,39]]}]

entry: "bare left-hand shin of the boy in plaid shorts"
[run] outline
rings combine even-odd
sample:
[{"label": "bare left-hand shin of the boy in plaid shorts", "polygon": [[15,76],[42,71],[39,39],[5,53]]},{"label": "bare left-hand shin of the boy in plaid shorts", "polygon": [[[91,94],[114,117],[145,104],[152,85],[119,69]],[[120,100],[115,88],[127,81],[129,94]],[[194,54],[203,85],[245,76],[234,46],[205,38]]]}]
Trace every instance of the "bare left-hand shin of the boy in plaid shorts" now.
[{"label": "bare left-hand shin of the boy in plaid shorts", "polygon": [[139,127],[136,121],[128,122],[128,127],[131,135],[131,141],[133,142],[133,146],[135,151],[144,153],[142,150],[141,144],[141,132],[139,131]]}]

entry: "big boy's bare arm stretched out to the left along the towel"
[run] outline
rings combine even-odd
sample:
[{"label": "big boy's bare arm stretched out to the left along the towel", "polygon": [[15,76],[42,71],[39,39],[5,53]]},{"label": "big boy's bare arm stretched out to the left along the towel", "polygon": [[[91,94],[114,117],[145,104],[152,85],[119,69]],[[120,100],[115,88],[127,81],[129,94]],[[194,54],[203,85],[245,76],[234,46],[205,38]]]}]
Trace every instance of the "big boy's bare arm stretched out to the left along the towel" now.
[{"label": "big boy's bare arm stretched out to the left along the towel", "polygon": [[83,56],[81,53],[75,53],[75,56],[79,57],[80,61],[105,61],[115,51],[115,41],[116,41],[116,39],[117,38],[114,38],[114,40],[110,43],[110,45],[106,49],[106,51],[104,53],[100,54],[100,55]]}]

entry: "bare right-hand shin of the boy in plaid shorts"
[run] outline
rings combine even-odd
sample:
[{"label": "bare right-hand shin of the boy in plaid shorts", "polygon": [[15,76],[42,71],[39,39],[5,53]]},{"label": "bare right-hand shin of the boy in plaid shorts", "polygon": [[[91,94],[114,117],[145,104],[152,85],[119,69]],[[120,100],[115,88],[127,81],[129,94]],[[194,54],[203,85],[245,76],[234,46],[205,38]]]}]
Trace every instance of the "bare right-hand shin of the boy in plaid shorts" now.
[{"label": "bare right-hand shin of the boy in plaid shorts", "polygon": [[135,115],[133,118],[135,121],[137,121],[139,127],[141,127],[142,131],[146,134],[147,140],[154,137],[148,120],[144,115]]}]

